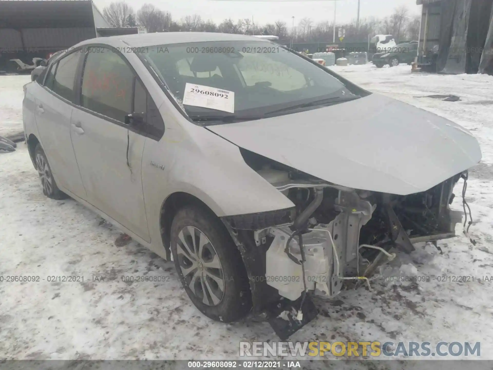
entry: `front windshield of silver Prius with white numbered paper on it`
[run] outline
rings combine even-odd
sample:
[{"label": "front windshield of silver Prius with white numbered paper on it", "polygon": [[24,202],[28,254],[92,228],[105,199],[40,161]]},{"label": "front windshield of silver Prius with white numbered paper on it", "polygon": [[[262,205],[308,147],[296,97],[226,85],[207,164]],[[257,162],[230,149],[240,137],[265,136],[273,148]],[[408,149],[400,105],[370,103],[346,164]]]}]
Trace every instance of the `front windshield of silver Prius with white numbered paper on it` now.
[{"label": "front windshield of silver Prius with white numbered paper on it", "polygon": [[364,92],[272,42],[193,42],[142,49],[150,72],[196,121],[281,115],[290,108],[307,110],[356,99]]}]

